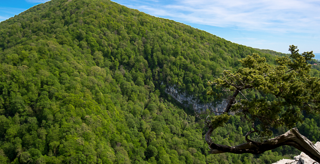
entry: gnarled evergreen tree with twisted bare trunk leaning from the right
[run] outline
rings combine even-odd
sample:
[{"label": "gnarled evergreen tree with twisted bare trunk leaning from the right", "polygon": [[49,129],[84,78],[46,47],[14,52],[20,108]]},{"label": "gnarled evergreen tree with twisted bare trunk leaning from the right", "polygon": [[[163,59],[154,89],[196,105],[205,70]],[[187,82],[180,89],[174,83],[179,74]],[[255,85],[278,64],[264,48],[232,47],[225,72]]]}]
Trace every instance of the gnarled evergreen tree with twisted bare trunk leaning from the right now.
[{"label": "gnarled evergreen tree with twisted bare trunk leaning from the right", "polygon": [[[205,140],[211,149],[209,153],[261,154],[290,145],[320,162],[320,153],[314,144],[293,128],[298,121],[302,121],[299,119],[302,111],[319,113],[320,79],[310,77],[311,65],[306,62],[314,54],[312,51],[300,54],[294,45],[290,46],[289,51],[290,57],[278,58],[276,65],[266,63],[266,59],[258,54],[252,54],[240,60],[243,68],[237,72],[225,70],[222,77],[208,81],[209,85],[222,88],[228,95],[228,104],[221,115],[215,116],[215,111],[198,114],[208,127]],[[215,93],[210,90],[207,94]],[[210,137],[215,128],[228,121],[230,112],[242,116],[253,126],[253,130],[245,135],[246,143],[232,147],[216,144]],[[255,132],[260,136],[271,136],[271,128],[282,126],[292,129],[263,142],[248,138]]]}]

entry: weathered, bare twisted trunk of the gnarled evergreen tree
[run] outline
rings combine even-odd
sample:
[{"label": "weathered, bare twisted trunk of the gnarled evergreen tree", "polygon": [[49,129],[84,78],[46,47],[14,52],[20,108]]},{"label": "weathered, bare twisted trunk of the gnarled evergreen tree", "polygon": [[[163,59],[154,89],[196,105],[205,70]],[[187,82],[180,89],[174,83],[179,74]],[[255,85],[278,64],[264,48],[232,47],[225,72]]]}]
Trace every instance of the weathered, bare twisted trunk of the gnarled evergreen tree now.
[{"label": "weathered, bare twisted trunk of the gnarled evergreen tree", "polygon": [[289,145],[306,153],[310,158],[320,163],[320,153],[317,151],[316,146],[309,141],[307,137],[301,135],[297,128],[290,129],[283,135],[276,136],[275,138],[271,138],[263,142],[247,140],[249,142],[232,147],[213,143],[210,138],[212,131],[213,128],[210,127],[205,135],[205,141],[209,144],[209,148],[211,149],[211,151],[209,151],[210,154],[220,154],[225,152],[234,154],[261,154],[283,145]]}]

